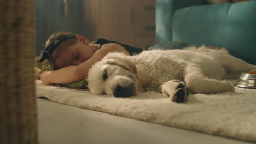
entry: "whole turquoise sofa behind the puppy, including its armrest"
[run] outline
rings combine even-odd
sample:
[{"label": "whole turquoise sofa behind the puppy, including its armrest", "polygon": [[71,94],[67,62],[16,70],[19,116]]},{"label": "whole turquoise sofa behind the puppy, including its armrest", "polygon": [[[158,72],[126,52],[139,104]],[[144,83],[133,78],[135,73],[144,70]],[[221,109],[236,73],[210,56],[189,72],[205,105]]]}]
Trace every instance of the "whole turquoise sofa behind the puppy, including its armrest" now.
[{"label": "whole turquoise sofa behind the puppy, including its armrest", "polygon": [[226,47],[256,64],[256,1],[209,4],[206,0],[156,1],[156,43]]}]

